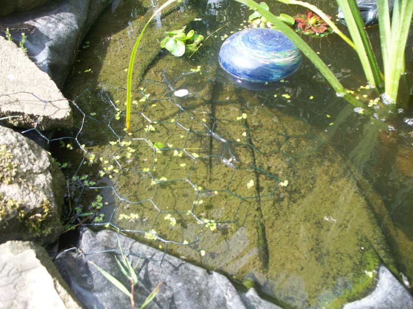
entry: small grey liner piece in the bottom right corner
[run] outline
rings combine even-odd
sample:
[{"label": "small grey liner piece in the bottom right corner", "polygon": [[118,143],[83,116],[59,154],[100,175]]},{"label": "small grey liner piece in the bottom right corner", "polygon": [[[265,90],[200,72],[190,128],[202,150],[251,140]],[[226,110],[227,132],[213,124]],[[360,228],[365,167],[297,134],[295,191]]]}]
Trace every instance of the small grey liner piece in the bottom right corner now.
[{"label": "small grey liner piece in the bottom right corner", "polygon": [[413,308],[413,297],[385,267],[380,267],[379,281],[367,297],[344,306],[344,309]]}]

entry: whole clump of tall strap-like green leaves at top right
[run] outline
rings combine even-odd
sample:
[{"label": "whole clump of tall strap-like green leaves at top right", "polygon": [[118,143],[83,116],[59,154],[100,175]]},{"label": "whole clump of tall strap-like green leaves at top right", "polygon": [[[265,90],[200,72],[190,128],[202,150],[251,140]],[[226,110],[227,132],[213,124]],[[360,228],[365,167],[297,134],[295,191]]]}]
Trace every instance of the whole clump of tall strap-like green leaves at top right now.
[{"label": "whole clump of tall strap-like green leaves at top right", "polygon": [[[354,106],[362,107],[362,104],[355,98],[346,95],[346,90],[340,81],[333,75],[323,60],[288,26],[279,21],[264,7],[253,0],[237,0],[257,11],[265,17],[275,28],[281,30],[300,51],[306,55],[314,66],[320,71],[330,85],[336,90],[338,96],[343,96]],[[278,0],[286,4],[297,4],[309,8],[317,13],[330,26],[334,32],[338,33],[358,54],[363,66],[364,74],[368,83],[378,89],[382,95],[384,103],[395,103],[397,100],[397,89],[401,74],[404,72],[404,49],[407,42],[410,21],[413,13],[413,1],[395,0],[393,9],[393,22],[390,24],[387,0],[378,0],[379,26],[381,33],[381,43],[383,52],[384,75],[377,65],[376,56],[371,48],[370,41],[364,29],[363,21],[359,14],[355,0],[337,0],[345,16],[346,23],[353,41],[341,33],[337,27],[314,5],[297,0]],[[337,31],[338,30],[338,31]],[[383,88],[384,84],[384,88]],[[384,89],[384,90],[383,90]],[[395,104],[391,105],[392,107]]]}]

